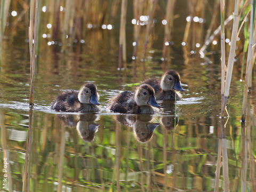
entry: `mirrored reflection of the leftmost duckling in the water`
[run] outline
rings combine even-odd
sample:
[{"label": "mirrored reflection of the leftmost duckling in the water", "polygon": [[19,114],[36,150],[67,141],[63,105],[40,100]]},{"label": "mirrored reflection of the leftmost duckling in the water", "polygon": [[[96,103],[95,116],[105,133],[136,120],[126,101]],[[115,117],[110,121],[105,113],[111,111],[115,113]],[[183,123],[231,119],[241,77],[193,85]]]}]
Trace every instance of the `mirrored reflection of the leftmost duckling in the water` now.
[{"label": "mirrored reflection of the leftmost duckling in the water", "polygon": [[98,131],[98,124],[95,124],[97,115],[81,114],[81,115],[60,115],[61,121],[66,126],[76,127],[79,136],[83,141],[91,142],[95,138]]}]

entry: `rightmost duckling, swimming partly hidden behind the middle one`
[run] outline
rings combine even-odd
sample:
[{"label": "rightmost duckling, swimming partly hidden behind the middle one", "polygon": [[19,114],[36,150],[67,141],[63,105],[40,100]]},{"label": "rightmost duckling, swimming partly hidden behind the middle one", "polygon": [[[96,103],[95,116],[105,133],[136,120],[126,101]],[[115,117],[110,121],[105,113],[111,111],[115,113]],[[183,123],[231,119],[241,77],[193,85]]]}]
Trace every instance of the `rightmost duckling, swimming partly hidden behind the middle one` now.
[{"label": "rightmost duckling, swimming partly hidden behind the middle one", "polygon": [[156,92],[156,100],[182,100],[182,95],[178,91],[185,91],[180,85],[180,75],[175,70],[166,71],[161,81],[158,79],[148,79],[141,84],[148,84]]}]

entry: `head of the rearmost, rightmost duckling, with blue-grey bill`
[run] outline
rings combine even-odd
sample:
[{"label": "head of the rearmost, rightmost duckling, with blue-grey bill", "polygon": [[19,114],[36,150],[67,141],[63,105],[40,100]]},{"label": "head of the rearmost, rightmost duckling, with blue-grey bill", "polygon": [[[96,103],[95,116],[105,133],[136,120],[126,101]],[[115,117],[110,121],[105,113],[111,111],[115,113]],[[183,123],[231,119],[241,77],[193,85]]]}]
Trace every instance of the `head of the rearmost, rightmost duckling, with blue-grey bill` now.
[{"label": "head of the rearmost, rightmost duckling, with blue-grey bill", "polygon": [[161,87],[164,91],[185,91],[180,85],[180,75],[177,71],[169,70],[161,78]]}]

